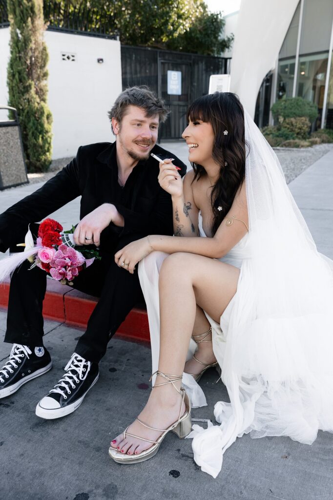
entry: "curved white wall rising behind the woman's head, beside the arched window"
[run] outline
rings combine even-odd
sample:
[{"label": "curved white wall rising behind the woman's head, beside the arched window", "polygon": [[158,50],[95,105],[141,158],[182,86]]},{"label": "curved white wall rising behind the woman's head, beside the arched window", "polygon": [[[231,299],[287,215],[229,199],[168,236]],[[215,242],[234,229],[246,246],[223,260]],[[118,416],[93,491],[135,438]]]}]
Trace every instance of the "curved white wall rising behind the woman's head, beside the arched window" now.
[{"label": "curved white wall rising behind the woman's head, beside the arched window", "polygon": [[298,0],[242,0],[231,60],[231,92],[254,116],[264,76],[275,67]]}]

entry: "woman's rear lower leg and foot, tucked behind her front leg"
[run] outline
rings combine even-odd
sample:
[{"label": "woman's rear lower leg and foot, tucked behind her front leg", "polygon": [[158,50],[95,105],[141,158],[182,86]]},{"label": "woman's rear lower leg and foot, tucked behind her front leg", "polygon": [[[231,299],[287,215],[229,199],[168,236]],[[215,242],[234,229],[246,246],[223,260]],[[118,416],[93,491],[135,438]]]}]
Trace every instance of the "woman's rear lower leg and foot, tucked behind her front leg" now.
[{"label": "woman's rear lower leg and foot, tucked behind her front leg", "polygon": [[[195,335],[201,335],[202,333],[208,331],[209,329],[210,329],[210,323],[208,319],[206,318],[201,307],[199,307],[196,304],[196,313],[195,313],[192,337]],[[201,339],[211,340],[211,331],[208,334],[199,336],[194,340],[198,342]],[[204,341],[198,343],[197,349],[195,351],[195,357],[204,364],[214,363],[216,361],[216,358],[212,350],[212,342]],[[197,375],[198,373],[200,373],[200,371],[202,371],[203,367],[204,366],[201,363],[199,363],[198,361],[196,361],[194,357],[192,357],[191,359],[186,361],[184,371],[186,373],[193,373],[194,375]]]}]

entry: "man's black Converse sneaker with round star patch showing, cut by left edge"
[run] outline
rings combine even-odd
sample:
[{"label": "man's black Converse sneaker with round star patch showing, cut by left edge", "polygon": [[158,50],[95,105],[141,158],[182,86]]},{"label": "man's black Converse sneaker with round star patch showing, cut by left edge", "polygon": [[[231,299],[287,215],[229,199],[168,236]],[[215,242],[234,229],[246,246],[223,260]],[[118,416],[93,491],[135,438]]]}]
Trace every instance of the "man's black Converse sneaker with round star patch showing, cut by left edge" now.
[{"label": "man's black Converse sneaker with round star patch showing, cut by left edge", "polygon": [[42,345],[31,349],[26,345],[13,344],[8,361],[0,369],[0,398],[9,396],[23,383],[51,369],[48,350]]}]

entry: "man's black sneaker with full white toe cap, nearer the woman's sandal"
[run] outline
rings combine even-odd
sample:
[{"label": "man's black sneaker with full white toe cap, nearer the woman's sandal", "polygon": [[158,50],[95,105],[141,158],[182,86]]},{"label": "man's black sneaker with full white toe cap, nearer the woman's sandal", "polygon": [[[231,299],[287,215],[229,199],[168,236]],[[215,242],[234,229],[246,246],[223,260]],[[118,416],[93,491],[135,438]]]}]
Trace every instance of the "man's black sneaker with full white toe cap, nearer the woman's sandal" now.
[{"label": "man's black sneaker with full white toe cap, nearer the woman's sandal", "polygon": [[85,394],[98,379],[98,364],[74,354],[65,366],[65,374],[36,406],[41,418],[59,418],[75,411]]}]

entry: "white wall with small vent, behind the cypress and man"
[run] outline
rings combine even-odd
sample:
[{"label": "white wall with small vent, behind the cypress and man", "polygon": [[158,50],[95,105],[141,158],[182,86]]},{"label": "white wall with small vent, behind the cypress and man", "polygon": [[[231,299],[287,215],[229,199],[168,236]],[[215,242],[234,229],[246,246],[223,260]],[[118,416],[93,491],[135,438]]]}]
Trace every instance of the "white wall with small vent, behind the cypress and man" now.
[{"label": "white wall with small vent, behind the cypress and man", "polygon": [[[53,116],[52,158],[73,156],[81,144],[112,141],[107,111],[121,92],[120,42],[46,31],[48,106]],[[0,103],[7,103],[9,29],[0,29]],[[63,60],[62,54],[75,60]],[[103,63],[98,63],[102,58]]]}]

